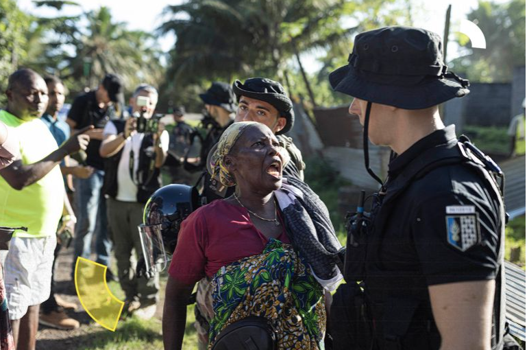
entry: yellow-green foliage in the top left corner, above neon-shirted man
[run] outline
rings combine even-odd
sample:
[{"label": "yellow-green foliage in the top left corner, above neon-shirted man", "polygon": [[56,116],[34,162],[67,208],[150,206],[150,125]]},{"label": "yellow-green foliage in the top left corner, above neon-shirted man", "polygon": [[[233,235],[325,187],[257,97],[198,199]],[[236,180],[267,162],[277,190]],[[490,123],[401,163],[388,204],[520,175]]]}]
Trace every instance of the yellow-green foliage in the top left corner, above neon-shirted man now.
[{"label": "yellow-green foliage in the top left corner, above neon-shirted man", "polygon": [[27,56],[27,36],[32,17],[25,14],[13,0],[0,0],[0,103],[8,77]]}]

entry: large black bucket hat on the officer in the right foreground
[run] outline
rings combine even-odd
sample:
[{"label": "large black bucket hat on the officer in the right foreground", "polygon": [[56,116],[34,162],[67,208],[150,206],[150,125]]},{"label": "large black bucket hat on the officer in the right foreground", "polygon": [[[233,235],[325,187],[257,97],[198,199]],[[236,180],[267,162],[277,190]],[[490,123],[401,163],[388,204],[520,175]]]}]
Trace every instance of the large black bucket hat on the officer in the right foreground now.
[{"label": "large black bucket hat on the officer in the right foreground", "polygon": [[439,35],[413,27],[384,27],[355,38],[348,65],[330,73],[330,84],[360,100],[404,109],[436,106],[470,91],[449,72]]}]

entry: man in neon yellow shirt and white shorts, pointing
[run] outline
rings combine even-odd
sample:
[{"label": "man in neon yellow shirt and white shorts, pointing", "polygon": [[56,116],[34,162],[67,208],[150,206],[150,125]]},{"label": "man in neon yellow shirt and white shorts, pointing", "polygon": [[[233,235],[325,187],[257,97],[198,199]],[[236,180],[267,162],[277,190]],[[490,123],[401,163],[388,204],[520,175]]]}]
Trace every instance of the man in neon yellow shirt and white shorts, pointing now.
[{"label": "man in neon yellow shirt and white shorts, pointing", "polygon": [[19,138],[20,158],[0,170],[0,223],[27,226],[14,232],[5,259],[13,338],[18,350],[35,348],[40,303],[49,297],[56,231],[67,197],[60,173],[64,156],[85,149],[89,137],[81,130],[60,148],[40,116],[48,102],[44,80],[31,69],[10,75],[8,106],[0,121]]}]

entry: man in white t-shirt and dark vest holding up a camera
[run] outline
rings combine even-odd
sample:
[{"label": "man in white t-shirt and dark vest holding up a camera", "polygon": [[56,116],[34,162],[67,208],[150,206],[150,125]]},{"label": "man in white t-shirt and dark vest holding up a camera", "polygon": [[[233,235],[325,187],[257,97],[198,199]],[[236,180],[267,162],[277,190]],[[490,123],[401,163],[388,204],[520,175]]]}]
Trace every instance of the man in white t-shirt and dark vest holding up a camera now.
[{"label": "man in white t-shirt and dark vest holding up a camera", "polygon": [[[136,257],[142,254],[137,226],[143,222],[146,200],[161,186],[159,169],[169,149],[169,133],[162,124],[156,128],[151,123],[157,102],[154,87],[138,86],[130,99],[135,117],[108,121],[99,149],[106,159],[103,191],[108,198],[119,282],[126,296],[123,310],[132,313],[140,308],[136,314],[145,318],[154,316],[159,279],[136,278],[131,257],[132,249]],[[145,125],[147,128],[141,127]]]}]

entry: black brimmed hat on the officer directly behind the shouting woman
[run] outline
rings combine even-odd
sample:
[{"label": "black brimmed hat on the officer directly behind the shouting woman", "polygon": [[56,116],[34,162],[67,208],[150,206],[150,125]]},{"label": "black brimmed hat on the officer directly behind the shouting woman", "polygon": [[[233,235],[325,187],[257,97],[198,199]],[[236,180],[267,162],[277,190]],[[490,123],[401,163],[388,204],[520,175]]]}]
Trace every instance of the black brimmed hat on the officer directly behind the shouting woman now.
[{"label": "black brimmed hat on the officer directly behind the shouting woman", "polygon": [[295,124],[293,102],[286,94],[284,86],[279,82],[267,78],[249,78],[242,84],[240,80],[236,80],[232,84],[232,90],[238,101],[241,96],[265,101],[276,108],[281,117],[285,117],[286,125],[282,130],[276,132],[276,135],[285,134],[293,128]]}]

